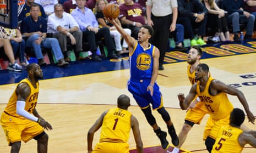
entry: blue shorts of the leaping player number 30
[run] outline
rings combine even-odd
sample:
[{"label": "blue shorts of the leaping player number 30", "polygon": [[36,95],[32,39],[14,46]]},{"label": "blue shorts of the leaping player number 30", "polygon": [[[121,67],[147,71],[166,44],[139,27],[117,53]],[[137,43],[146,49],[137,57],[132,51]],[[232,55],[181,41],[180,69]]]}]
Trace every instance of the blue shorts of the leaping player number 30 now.
[{"label": "blue shorts of the leaping player number 30", "polygon": [[152,105],[153,109],[160,109],[163,106],[162,93],[159,90],[159,86],[155,83],[153,96],[150,95],[150,91],[146,91],[150,80],[130,81],[127,82],[127,88],[130,93],[133,94],[133,98],[141,109],[145,109]]}]

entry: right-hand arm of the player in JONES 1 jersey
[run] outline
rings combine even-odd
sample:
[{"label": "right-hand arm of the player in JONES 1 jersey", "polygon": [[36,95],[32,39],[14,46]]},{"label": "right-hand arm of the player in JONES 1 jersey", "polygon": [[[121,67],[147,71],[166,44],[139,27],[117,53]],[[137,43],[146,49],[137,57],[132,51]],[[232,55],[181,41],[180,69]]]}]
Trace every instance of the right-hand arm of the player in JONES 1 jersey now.
[{"label": "right-hand arm of the player in JONES 1 jersey", "polygon": [[143,152],[143,143],[140,137],[140,130],[139,130],[139,122],[137,118],[132,116],[130,118],[131,127],[133,130],[133,137],[136,143],[137,152],[142,153]]}]

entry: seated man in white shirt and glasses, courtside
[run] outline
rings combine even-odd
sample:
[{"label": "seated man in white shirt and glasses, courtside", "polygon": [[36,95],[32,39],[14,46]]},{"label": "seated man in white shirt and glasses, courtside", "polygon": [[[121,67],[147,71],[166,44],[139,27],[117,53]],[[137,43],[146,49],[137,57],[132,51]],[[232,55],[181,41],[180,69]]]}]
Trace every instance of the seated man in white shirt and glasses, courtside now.
[{"label": "seated man in white shirt and glasses, courtside", "polygon": [[67,43],[75,45],[75,52],[83,51],[83,33],[73,16],[64,12],[62,4],[55,4],[54,9],[55,13],[48,17],[47,32],[58,39],[65,60],[70,61]]}]

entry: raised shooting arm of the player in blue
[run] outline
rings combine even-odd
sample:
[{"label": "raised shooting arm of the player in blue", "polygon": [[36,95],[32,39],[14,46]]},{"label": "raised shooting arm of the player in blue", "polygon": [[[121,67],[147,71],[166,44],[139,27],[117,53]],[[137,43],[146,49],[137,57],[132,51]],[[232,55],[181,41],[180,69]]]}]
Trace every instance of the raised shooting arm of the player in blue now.
[{"label": "raised shooting arm of the player in blue", "polygon": [[126,40],[128,46],[133,48],[133,46],[136,43],[136,40],[132,36],[128,35],[128,33],[126,33],[126,31],[123,30],[123,27],[121,25],[118,25],[115,19],[110,20],[109,18],[107,18],[107,20],[116,27],[117,31],[121,33],[123,38]]}]

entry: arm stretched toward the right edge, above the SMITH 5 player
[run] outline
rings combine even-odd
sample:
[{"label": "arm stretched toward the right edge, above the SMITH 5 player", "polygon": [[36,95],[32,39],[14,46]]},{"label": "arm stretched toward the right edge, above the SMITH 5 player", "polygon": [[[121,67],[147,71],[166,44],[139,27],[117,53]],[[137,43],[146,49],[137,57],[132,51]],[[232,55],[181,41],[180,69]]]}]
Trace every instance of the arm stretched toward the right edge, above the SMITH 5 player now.
[{"label": "arm stretched toward the right edge, above the SMITH 5 player", "polygon": [[239,101],[241,102],[241,104],[243,105],[244,110],[246,111],[249,122],[252,122],[254,124],[255,116],[250,111],[246,97],[244,97],[244,94],[241,92],[241,90],[238,90],[237,88],[228,86],[227,84],[225,84],[219,80],[212,81],[211,87],[217,91],[225,92],[230,95],[236,95],[237,98],[239,99]]}]

